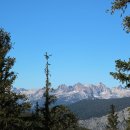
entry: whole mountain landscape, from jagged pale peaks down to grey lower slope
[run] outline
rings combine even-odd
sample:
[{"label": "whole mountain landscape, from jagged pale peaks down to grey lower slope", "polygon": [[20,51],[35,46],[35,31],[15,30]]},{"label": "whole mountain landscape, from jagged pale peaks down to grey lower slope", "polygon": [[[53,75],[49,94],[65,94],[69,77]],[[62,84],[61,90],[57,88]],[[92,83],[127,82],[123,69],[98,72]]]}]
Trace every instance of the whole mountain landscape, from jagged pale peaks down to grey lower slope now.
[{"label": "whole mountain landscape, from jagged pale peaks down to grey lower slope", "polygon": [[[44,103],[44,88],[13,88],[12,91],[25,94],[28,101],[31,102],[32,108],[37,101],[40,106]],[[54,89],[51,94],[57,96],[57,104],[67,105],[78,116],[79,124],[82,127],[91,130],[104,130],[107,125],[109,107],[114,104],[119,115],[119,130],[126,128],[124,118],[127,119],[129,116],[127,107],[130,106],[130,88],[124,88],[121,85],[107,87],[103,83],[97,85],[77,83],[72,86],[62,84]]]}]

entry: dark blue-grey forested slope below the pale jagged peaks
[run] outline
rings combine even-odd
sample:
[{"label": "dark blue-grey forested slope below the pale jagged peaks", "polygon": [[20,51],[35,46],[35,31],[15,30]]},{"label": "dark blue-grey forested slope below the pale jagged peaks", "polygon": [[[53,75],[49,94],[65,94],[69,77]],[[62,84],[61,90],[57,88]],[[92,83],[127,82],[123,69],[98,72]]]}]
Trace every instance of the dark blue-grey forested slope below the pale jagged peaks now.
[{"label": "dark blue-grey forested slope below the pale jagged peaks", "polygon": [[69,105],[69,108],[79,117],[79,119],[88,119],[92,117],[101,117],[109,113],[110,105],[114,104],[116,110],[120,111],[130,106],[130,97],[117,99],[95,99],[82,100]]}]

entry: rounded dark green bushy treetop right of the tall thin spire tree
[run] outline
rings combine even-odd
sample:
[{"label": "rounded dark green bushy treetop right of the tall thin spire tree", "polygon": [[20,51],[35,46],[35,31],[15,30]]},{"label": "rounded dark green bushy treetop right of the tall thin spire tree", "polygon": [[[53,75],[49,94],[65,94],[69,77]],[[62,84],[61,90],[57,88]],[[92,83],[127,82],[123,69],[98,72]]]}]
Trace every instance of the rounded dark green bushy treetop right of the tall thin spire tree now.
[{"label": "rounded dark green bushy treetop right of the tall thin spire tree", "polygon": [[54,130],[64,130],[76,128],[78,119],[65,106],[59,105],[51,109],[52,128]]}]

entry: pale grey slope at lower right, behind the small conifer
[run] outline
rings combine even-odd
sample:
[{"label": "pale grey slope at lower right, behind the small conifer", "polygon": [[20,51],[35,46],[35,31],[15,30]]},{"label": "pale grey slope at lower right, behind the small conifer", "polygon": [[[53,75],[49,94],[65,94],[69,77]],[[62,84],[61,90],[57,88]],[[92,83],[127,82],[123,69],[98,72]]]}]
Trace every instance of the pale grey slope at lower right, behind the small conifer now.
[{"label": "pale grey slope at lower right, behind the small conifer", "polygon": [[[128,108],[125,108],[124,110],[117,112],[118,114],[118,129],[119,130],[126,130],[126,120],[129,117],[129,111]],[[91,130],[105,130],[107,126],[107,116],[103,116],[100,118],[91,118],[87,120],[80,120],[79,125],[82,127],[89,128]]]}]

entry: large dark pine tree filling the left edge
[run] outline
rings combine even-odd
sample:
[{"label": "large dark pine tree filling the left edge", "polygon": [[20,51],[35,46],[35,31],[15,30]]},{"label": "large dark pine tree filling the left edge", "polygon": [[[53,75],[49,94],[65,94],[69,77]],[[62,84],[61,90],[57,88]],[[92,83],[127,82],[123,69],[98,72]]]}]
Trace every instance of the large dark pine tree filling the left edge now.
[{"label": "large dark pine tree filling the left edge", "polygon": [[[12,71],[15,58],[7,54],[12,49],[10,34],[0,29],[0,129],[14,130],[22,123],[20,115],[30,105],[26,103],[25,95],[12,92],[16,73]],[[23,101],[22,103],[18,103]]]}]

